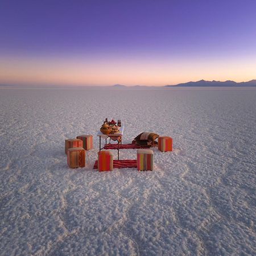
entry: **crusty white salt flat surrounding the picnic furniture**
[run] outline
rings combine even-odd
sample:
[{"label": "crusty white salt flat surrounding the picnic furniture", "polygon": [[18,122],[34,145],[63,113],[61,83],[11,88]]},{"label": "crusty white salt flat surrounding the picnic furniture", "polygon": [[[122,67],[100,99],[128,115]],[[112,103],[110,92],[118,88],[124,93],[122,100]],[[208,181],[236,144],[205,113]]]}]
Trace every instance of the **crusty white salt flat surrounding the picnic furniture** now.
[{"label": "crusty white salt flat surrounding the picnic furniture", "polygon": [[[0,88],[0,254],[255,255],[255,113],[254,88]],[[174,151],[154,148],[152,172],[93,170],[106,117],[123,143],[153,131]],[[69,169],[80,134],[94,149]]]}]

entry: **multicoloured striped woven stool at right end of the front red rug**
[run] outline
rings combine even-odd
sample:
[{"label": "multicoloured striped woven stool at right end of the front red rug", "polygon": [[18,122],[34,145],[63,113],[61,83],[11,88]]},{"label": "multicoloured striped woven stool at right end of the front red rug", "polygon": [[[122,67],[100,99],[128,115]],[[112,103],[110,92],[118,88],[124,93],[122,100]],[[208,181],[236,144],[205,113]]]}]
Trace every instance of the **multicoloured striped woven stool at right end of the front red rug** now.
[{"label": "multicoloured striped woven stool at right end of the front red rug", "polygon": [[137,150],[137,168],[138,171],[153,170],[153,151],[150,149]]}]

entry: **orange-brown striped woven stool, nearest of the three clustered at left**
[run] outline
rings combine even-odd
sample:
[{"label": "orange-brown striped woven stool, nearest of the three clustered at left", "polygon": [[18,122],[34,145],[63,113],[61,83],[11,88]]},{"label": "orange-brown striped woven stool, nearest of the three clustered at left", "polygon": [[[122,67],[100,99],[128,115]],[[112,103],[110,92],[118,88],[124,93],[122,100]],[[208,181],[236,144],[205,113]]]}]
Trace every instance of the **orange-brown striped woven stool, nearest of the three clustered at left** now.
[{"label": "orange-brown striped woven stool, nearest of the three clustered at left", "polygon": [[69,168],[85,167],[85,152],[82,147],[68,148]]}]

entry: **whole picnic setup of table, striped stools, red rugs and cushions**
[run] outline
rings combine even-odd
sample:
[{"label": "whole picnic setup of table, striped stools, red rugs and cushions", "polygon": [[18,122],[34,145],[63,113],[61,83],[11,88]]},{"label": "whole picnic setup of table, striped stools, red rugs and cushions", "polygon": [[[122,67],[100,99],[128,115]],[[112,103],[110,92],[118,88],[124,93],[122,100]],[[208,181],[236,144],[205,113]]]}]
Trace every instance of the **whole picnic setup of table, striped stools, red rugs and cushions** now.
[{"label": "whole picnic setup of table, striped stools, red rugs and cushions", "polygon": [[[130,144],[123,144],[124,125],[121,119],[105,119],[96,136],[99,141],[98,158],[93,169],[98,171],[113,171],[114,168],[137,168],[138,171],[152,171],[154,152],[151,147],[158,147],[159,151],[172,151],[172,138],[159,136],[156,133],[143,132],[133,139]],[[158,139],[158,141],[156,141]],[[102,142],[104,145],[102,146]],[[93,135],[82,134],[74,139],[65,140],[65,154],[69,168],[85,167],[86,151],[93,148]],[[136,149],[137,159],[119,159],[119,150]],[[113,151],[117,150],[117,159]]]}]

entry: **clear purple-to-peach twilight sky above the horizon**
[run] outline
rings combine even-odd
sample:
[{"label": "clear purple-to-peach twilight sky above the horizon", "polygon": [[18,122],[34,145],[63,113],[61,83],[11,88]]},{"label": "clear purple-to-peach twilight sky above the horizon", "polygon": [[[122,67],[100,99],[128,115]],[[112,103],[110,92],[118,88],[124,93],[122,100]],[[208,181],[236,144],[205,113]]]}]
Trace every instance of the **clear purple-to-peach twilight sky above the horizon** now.
[{"label": "clear purple-to-peach twilight sky above the horizon", "polygon": [[0,0],[0,84],[256,79],[255,0]]}]

